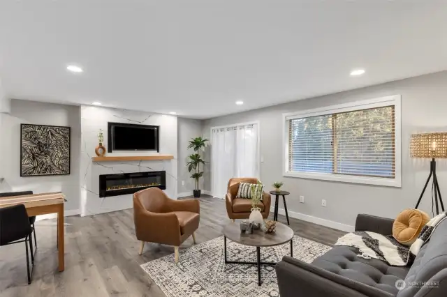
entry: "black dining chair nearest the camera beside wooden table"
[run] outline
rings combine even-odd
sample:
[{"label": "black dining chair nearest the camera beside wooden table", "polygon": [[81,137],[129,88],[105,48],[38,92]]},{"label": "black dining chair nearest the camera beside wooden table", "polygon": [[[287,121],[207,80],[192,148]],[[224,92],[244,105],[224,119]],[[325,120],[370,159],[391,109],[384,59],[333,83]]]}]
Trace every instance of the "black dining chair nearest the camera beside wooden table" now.
[{"label": "black dining chair nearest the camera beside wooden table", "polygon": [[[0,208],[0,246],[14,243],[25,243],[27,253],[28,284],[31,284],[31,274],[34,268],[33,241],[27,208],[23,204]],[[31,250],[31,271],[29,269],[28,244]]]}]

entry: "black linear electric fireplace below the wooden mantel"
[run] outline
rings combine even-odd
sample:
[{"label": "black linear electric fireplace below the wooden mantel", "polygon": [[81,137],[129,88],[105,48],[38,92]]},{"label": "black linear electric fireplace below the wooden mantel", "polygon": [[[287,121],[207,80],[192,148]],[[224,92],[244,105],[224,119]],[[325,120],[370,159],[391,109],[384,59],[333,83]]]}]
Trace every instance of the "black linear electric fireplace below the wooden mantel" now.
[{"label": "black linear electric fireplace below the wooden mantel", "polygon": [[133,194],[152,187],[166,189],[166,172],[133,172],[99,176],[99,197]]}]

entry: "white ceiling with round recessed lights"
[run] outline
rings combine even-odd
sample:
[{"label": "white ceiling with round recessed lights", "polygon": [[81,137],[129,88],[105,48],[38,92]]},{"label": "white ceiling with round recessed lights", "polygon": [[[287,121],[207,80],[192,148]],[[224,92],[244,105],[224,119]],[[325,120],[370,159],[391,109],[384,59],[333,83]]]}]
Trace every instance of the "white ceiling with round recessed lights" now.
[{"label": "white ceiling with round recessed lights", "polygon": [[2,0],[0,77],[10,98],[207,119],[445,70],[446,15],[444,0]]}]

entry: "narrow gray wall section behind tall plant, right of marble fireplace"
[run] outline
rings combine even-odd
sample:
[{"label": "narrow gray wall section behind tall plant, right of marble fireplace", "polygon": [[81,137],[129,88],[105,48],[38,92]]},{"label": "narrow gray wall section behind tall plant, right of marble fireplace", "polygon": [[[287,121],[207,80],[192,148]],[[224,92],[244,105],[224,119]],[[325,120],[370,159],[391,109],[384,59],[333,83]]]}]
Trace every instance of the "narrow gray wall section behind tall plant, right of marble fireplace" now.
[{"label": "narrow gray wall section behind tall plant, right of marble fireplace", "polygon": [[[191,174],[188,172],[188,167],[186,167],[186,162],[188,161],[188,156],[194,153],[192,148],[188,149],[189,140],[202,135],[202,122],[200,120],[194,119],[177,119],[177,134],[178,134],[178,194],[185,195],[186,193],[192,192],[194,190],[194,180],[189,177]],[[184,181],[184,185],[182,185]],[[200,179],[200,188],[203,189],[203,178]]]}]

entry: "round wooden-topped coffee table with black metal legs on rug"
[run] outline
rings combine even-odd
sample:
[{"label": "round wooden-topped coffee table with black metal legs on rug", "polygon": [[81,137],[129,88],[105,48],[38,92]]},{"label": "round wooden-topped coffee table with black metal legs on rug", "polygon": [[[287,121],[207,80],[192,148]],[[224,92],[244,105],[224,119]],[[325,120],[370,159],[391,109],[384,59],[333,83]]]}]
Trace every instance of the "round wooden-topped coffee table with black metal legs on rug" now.
[{"label": "round wooden-topped coffee table with black metal legs on rug", "polygon": [[[261,286],[261,265],[276,265],[274,262],[261,262],[261,248],[272,247],[291,243],[291,257],[293,257],[293,230],[277,222],[274,233],[265,233],[260,229],[254,230],[253,234],[241,234],[240,224],[230,222],[223,227],[223,249],[225,250],[225,264],[253,264],[258,266],[258,285]],[[226,238],[241,245],[256,247],[256,262],[230,261],[226,255]]]}]

